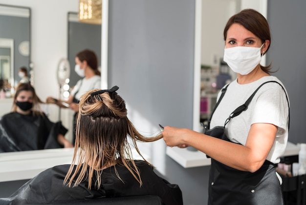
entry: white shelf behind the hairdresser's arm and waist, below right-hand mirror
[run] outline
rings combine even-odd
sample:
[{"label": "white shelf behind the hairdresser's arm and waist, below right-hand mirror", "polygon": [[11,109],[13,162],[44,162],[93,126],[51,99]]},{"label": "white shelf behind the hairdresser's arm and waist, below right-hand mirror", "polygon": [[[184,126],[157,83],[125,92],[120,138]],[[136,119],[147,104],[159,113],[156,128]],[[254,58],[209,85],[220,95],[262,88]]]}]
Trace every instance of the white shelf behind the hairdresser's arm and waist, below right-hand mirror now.
[{"label": "white shelf behind the hairdresser's arm and waist, below right-hand mirror", "polygon": [[[300,146],[287,143],[283,157],[299,155]],[[166,154],[184,168],[210,165],[210,158],[200,151],[190,151],[186,148],[167,147]]]}]

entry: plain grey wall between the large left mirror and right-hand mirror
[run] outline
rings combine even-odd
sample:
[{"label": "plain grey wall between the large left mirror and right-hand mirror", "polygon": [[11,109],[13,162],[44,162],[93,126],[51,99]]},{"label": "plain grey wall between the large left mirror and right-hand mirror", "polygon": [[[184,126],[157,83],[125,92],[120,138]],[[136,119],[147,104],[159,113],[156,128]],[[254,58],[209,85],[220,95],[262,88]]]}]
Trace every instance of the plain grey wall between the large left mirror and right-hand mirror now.
[{"label": "plain grey wall between the large left mirror and right-hand mirror", "polygon": [[[109,1],[109,87],[152,124],[192,128],[194,19],[195,1]],[[209,166],[165,164],[185,205],[206,204]]]}]

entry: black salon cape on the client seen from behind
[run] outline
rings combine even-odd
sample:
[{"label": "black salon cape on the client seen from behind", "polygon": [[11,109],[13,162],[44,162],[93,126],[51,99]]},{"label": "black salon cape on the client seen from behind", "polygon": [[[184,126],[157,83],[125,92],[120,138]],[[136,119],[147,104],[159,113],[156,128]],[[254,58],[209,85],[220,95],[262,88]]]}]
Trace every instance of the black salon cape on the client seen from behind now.
[{"label": "black salon cape on the client seen from behind", "polygon": [[[153,171],[153,167],[144,161],[135,161],[139,168],[143,185],[131,175],[123,165],[115,165],[122,181],[116,176],[114,166],[103,170],[101,188],[96,189],[96,174],[88,189],[88,179],[76,187],[63,185],[68,164],[49,168],[22,185],[9,198],[0,199],[1,205],[21,205],[48,202],[65,202],[67,200],[81,200],[103,197],[122,197],[137,195],[157,195],[165,205],[182,205],[182,193],[178,185],[169,184]],[[75,165],[76,166],[76,165]],[[87,169],[88,171],[88,169]],[[63,203],[65,204],[65,203]]]}]

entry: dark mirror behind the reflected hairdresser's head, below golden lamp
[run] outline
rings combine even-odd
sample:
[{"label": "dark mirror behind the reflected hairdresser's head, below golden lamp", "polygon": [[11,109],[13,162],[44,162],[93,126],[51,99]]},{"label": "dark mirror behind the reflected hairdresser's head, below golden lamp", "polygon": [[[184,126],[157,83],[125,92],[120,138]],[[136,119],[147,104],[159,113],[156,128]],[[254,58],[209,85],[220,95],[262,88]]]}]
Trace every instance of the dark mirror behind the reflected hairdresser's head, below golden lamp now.
[{"label": "dark mirror behind the reflected hairdresser's head, below golden lamp", "polygon": [[[74,86],[80,77],[74,71],[75,56],[78,52],[89,49],[96,53],[101,65],[101,24],[82,23],[78,13],[68,12],[68,61],[70,64],[69,86]],[[99,66],[100,68],[101,66]]]}]

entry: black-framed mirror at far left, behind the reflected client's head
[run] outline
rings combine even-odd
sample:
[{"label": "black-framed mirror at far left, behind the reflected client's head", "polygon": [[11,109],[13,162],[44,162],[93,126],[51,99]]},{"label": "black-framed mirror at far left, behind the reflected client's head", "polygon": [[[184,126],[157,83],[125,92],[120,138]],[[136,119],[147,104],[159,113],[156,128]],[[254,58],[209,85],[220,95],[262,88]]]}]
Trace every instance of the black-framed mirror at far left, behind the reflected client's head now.
[{"label": "black-framed mirror at far left, behind the reflected client's head", "polygon": [[30,77],[30,22],[29,7],[0,4],[0,89],[6,97],[21,80],[20,67],[25,66]]}]

